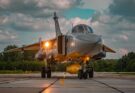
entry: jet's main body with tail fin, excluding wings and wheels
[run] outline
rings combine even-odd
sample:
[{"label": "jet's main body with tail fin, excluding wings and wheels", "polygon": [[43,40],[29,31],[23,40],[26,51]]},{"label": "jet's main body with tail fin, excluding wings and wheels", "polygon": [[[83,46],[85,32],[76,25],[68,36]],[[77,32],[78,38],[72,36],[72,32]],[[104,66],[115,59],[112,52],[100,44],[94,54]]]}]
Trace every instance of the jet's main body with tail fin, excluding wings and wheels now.
[{"label": "jet's main body with tail fin, excluding wings and wheels", "polygon": [[[93,29],[85,24],[78,24],[72,28],[67,34],[62,34],[58,17],[54,13],[56,39],[51,44],[50,49],[42,47],[40,48],[39,55],[45,53],[46,58],[64,56],[66,59],[73,59],[73,57],[88,56],[94,59],[101,59],[106,56],[103,50],[102,38],[99,35],[93,33]],[[61,59],[61,58],[59,58]]]}]

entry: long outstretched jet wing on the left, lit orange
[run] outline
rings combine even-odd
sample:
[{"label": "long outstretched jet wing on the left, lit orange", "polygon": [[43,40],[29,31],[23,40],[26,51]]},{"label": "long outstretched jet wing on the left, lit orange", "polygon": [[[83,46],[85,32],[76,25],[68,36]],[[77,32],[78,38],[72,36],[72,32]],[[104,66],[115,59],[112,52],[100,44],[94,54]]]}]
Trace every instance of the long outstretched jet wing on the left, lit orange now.
[{"label": "long outstretched jet wing on the left, lit orange", "polygon": [[34,43],[34,44],[31,44],[31,45],[26,45],[26,46],[23,46],[23,47],[20,47],[20,48],[10,49],[10,50],[5,51],[4,53],[6,53],[6,52],[30,51],[30,50],[37,50],[38,51],[40,49],[40,43],[41,43],[41,46],[43,46],[43,44],[45,42],[49,42],[52,46],[51,48],[53,48],[54,43],[56,42],[56,38],[50,39],[50,40],[44,40],[44,41]]}]

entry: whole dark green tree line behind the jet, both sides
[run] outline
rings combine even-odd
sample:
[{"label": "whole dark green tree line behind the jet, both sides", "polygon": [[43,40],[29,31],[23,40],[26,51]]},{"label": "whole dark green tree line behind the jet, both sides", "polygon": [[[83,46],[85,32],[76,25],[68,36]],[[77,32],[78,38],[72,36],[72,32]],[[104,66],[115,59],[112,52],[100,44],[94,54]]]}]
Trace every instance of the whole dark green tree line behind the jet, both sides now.
[{"label": "whole dark green tree line behind the jet, both sides", "polygon": [[[7,46],[4,51],[17,48],[16,45]],[[37,51],[24,51],[12,53],[0,53],[0,70],[28,70],[39,71],[44,62],[39,62],[35,58]],[[102,59],[92,62],[95,71],[103,72],[135,72],[135,53],[129,52],[120,59]],[[54,70],[64,71],[66,64],[55,64]]]}]

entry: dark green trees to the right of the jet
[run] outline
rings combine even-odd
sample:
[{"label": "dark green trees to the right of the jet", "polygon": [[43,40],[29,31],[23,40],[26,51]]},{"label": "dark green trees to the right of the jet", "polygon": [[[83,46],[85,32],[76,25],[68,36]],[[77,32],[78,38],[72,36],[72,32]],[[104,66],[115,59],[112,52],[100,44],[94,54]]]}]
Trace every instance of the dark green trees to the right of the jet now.
[{"label": "dark green trees to the right of the jet", "polygon": [[94,62],[96,71],[135,72],[135,53],[129,52],[120,59],[103,59]]}]

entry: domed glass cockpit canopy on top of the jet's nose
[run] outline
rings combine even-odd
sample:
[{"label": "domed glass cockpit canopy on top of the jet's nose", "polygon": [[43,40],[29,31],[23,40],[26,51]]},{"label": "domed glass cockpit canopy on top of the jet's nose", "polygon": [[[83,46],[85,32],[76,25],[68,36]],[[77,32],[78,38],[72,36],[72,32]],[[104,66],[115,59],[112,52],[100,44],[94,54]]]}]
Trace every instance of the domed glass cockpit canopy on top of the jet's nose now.
[{"label": "domed glass cockpit canopy on top of the jet's nose", "polygon": [[72,29],[72,33],[93,33],[93,30],[88,25],[79,24]]}]

